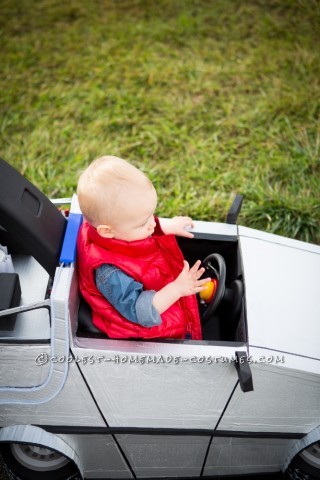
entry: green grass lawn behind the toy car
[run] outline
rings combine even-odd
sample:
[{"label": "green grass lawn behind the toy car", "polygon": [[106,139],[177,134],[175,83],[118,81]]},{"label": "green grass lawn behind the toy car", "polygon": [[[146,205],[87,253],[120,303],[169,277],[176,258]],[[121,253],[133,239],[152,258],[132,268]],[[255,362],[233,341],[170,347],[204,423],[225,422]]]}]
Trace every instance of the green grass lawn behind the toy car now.
[{"label": "green grass lawn behind the toy car", "polygon": [[320,243],[319,0],[0,0],[0,153],[48,196],[101,154],[159,215]]}]

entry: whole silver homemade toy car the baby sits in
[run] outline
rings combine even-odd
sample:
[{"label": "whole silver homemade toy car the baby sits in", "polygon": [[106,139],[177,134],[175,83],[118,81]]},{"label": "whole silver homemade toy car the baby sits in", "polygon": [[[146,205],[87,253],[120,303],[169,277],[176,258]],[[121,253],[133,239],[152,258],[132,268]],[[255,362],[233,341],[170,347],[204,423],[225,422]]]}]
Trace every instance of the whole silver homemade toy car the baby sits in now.
[{"label": "whole silver homemade toy car the baby sits in", "polygon": [[115,340],[80,298],[76,203],[63,214],[0,161],[9,478],[320,478],[320,247],[238,226],[238,196],[178,239],[219,280],[203,340]]}]

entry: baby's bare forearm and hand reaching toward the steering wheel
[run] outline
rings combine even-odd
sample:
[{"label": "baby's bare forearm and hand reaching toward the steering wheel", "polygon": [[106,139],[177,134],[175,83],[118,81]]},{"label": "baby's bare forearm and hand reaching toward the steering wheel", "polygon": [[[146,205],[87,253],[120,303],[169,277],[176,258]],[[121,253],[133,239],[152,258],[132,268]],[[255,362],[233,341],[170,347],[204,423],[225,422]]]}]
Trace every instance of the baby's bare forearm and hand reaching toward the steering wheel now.
[{"label": "baby's bare forearm and hand reaching toward the steering wheel", "polygon": [[210,278],[199,280],[205,271],[204,268],[199,268],[200,265],[201,262],[198,260],[190,268],[188,262],[184,260],[180,275],[154,295],[152,303],[160,314],[171,307],[179,298],[193,295],[205,289],[204,284],[209,282]]}]

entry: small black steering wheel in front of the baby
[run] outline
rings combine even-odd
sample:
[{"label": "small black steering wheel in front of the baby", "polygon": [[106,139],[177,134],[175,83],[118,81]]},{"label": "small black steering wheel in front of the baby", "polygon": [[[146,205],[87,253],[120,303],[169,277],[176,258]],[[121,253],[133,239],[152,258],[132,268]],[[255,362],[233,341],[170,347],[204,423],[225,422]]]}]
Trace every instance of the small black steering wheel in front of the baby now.
[{"label": "small black steering wheel in front of the baby", "polygon": [[219,253],[211,253],[211,255],[208,255],[203,260],[202,265],[207,270],[208,275],[211,275],[214,278],[217,278],[218,280],[217,291],[215,292],[212,301],[207,306],[206,311],[201,320],[201,323],[205,324],[210,320],[210,318],[212,317],[212,315],[214,314],[214,312],[220,305],[221,300],[224,297],[225,288],[226,288],[225,287],[226,263],[224,261],[224,258],[221,255],[219,255]]}]

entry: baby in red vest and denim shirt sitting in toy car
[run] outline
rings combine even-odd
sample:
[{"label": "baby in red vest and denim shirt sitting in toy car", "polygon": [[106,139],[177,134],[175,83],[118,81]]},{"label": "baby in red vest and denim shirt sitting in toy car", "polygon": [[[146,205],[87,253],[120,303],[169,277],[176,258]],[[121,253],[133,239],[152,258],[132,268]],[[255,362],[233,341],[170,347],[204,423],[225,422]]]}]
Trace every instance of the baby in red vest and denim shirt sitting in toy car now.
[{"label": "baby in red vest and denim shirt sitting in toy car", "polygon": [[191,268],[175,235],[193,237],[189,217],[159,220],[157,193],[125,160],[104,156],[81,174],[80,291],[110,338],[201,339],[195,294],[210,279]]}]

